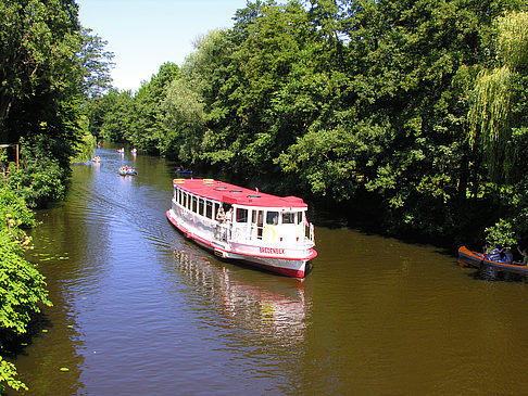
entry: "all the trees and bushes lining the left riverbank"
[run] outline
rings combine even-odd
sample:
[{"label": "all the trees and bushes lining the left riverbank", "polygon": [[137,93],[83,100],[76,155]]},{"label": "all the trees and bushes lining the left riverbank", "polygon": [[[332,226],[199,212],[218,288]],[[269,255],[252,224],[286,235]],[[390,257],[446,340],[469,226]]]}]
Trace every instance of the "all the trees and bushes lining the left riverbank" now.
[{"label": "all the trees and bushes lining the left riverbank", "polygon": [[0,0],[0,392],[25,387],[4,346],[50,304],[42,276],[24,259],[23,228],[34,226],[27,206],[63,196],[73,157],[93,145],[87,102],[111,82],[112,54],[77,13],[74,0]]}]

